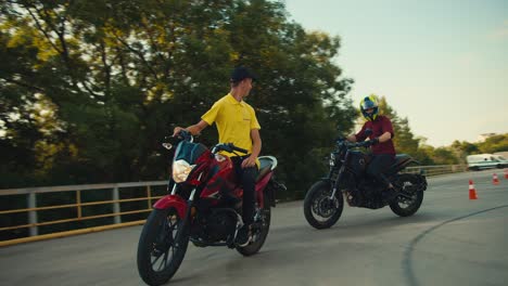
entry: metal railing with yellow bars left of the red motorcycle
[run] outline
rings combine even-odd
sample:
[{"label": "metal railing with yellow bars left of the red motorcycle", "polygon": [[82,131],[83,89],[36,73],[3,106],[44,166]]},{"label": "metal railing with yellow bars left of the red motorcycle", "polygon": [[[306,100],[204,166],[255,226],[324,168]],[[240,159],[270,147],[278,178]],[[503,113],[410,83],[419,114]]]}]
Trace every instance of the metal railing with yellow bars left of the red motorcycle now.
[{"label": "metal railing with yellow bars left of the red motorcycle", "polygon": [[[3,203],[13,200],[13,197],[26,196],[26,208],[16,208],[16,209],[0,209],[0,235],[7,232],[15,232],[22,230],[28,230],[25,237],[16,237],[12,239],[0,239],[0,247],[8,246],[24,242],[33,242],[39,239],[47,239],[53,237],[62,237],[67,235],[74,235],[78,233],[87,233],[94,231],[102,231],[107,229],[115,229],[120,226],[142,224],[144,220],[135,220],[123,222],[122,217],[128,214],[143,213],[152,210],[153,203],[156,199],[161,198],[162,195],[154,195],[153,187],[164,186],[167,184],[167,181],[153,181],[153,182],[134,182],[134,183],[114,183],[114,184],[89,184],[89,185],[63,185],[63,186],[47,186],[47,187],[28,187],[28,188],[7,188],[0,190],[0,199]],[[143,195],[139,197],[127,197],[120,198],[122,190],[128,188],[143,188],[144,192],[141,192]],[[96,202],[84,202],[81,196],[90,191],[100,191],[100,192],[111,192],[111,199],[106,200],[96,200]],[[43,194],[54,194],[60,192],[73,192],[74,203],[63,204],[63,205],[52,205],[52,206],[38,206],[38,196]],[[138,192],[140,193],[140,192]],[[158,192],[161,193],[161,192]],[[166,192],[164,192],[166,193]],[[144,207],[141,207],[135,210],[122,210],[122,204],[135,203],[135,202],[147,202],[143,204]],[[9,204],[2,204],[2,206]],[[84,214],[84,209],[92,206],[101,205],[111,205],[112,209],[109,213],[100,214]],[[39,221],[38,213],[41,211],[51,211],[51,210],[62,210],[62,209],[74,209],[75,217],[71,218],[59,218],[48,221]],[[13,224],[13,225],[3,225],[9,224],[7,219],[9,216],[20,216],[25,213],[26,218],[23,221],[27,223]],[[82,222],[88,220],[97,220],[104,218],[113,218],[113,223],[107,225],[98,225],[93,227],[85,227],[79,230],[68,230],[64,232],[49,233],[39,235],[39,226],[63,224],[69,222]],[[2,236],[4,237],[4,236]]]}]

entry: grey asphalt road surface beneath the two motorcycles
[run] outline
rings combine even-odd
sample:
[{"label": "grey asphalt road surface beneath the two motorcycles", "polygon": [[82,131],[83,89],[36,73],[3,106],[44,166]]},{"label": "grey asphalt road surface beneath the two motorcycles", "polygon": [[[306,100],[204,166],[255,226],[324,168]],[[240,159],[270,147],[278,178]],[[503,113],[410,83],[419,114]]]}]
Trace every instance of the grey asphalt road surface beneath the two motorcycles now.
[{"label": "grey asphalt road surface beneath the two motorcycles", "polygon": [[[500,184],[492,184],[492,173]],[[469,200],[468,181],[479,199]],[[345,207],[329,230],[303,202],[272,210],[261,252],[192,245],[168,285],[508,285],[508,180],[500,170],[429,179],[420,210]],[[144,285],[136,266],[141,226],[0,248],[0,285]]]}]

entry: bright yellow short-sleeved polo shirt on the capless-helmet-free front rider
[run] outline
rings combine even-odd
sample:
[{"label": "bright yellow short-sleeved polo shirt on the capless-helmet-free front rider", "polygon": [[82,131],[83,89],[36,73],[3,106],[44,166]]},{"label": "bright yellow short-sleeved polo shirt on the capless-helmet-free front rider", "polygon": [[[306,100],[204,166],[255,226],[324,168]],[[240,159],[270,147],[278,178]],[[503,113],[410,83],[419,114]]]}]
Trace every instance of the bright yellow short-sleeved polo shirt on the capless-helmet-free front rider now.
[{"label": "bright yellow short-sleeved polo shirt on the capless-helmet-free front rider", "polygon": [[[252,153],[251,130],[261,129],[256,113],[244,101],[238,102],[231,93],[221,98],[202,117],[209,126],[217,125],[219,143],[233,143]],[[240,153],[241,154],[241,153]],[[236,156],[232,153],[224,153],[226,156]],[[246,154],[241,154],[246,155]]]}]

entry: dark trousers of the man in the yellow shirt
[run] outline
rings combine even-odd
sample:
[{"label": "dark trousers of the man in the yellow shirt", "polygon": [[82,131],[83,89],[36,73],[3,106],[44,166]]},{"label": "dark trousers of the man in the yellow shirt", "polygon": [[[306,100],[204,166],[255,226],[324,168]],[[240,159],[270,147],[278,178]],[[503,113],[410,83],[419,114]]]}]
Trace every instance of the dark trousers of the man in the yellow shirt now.
[{"label": "dark trousers of the man in the yellow shirt", "polygon": [[243,188],[243,223],[251,224],[254,221],[257,166],[242,168],[242,161],[246,157],[249,156],[231,157],[231,161],[234,166],[237,179]]}]

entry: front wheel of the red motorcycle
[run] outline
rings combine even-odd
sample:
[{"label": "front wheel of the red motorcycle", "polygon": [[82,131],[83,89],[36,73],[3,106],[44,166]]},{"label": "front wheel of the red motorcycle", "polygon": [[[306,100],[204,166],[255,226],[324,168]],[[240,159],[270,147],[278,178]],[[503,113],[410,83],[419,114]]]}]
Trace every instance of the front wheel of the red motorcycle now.
[{"label": "front wheel of the red motorcycle", "polygon": [[138,271],[148,285],[168,282],[181,264],[189,244],[182,220],[175,209],[154,209],[141,232]]}]

